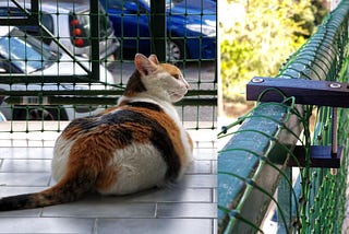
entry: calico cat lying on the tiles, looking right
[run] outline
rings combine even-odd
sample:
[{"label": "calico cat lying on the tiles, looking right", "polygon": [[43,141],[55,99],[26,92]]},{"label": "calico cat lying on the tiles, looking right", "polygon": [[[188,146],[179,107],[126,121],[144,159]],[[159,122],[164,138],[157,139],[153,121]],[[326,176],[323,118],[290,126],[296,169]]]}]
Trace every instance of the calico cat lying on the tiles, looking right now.
[{"label": "calico cat lying on the tiles, looking right", "polygon": [[55,186],[0,199],[0,210],[32,209],[80,199],[88,191],[128,195],[178,180],[193,143],[172,103],[189,84],[181,71],[137,54],[135,71],[116,107],[71,121],[53,149]]}]

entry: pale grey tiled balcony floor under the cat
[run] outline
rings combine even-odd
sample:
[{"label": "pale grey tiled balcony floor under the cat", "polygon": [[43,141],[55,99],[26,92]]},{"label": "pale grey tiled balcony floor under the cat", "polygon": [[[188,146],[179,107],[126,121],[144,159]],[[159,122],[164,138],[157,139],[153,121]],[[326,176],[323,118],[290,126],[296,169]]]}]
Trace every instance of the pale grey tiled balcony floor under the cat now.
[{"label": "pale grey tiled balcony floor under the cat", "polygon": [[[0,212],[0,233],[216,233],[216,134],[191,133],[195,160],[173,187],[124,197],[88,195],[67,204]],[[0,133],[0,197],[39,191],[53,183],[50,160],[57,136]]]}]

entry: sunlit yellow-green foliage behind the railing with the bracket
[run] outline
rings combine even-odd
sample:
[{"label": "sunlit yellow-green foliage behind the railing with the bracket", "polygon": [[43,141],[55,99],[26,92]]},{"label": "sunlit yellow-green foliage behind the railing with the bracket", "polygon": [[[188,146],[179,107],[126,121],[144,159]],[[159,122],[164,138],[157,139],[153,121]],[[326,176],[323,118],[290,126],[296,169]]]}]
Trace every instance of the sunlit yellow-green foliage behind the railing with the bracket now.
[{"label": "sunlit yellow-green foliage behind the railing with the bracket", "polygon": [[241,101],[253,77],[275,77],[305,43],[314,30],[315,7],[311,0],[234,0],[222,7],[230,14],[219,24],[222,95]]}]

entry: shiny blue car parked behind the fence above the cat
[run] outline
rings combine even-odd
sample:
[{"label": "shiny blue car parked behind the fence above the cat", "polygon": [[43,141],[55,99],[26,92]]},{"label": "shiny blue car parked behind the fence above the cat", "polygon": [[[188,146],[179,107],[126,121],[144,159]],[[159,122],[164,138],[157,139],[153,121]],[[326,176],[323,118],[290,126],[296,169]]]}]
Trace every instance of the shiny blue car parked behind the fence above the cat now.
[{"label": "shiny blue car parked behind the fence above the cat", "polygon": [[[100,0],[125,55],[151,54],[151,0]],[[216,1],[166,0],[167,60],[216,59]],[[132,55],[131,54],[131,55]]]}]

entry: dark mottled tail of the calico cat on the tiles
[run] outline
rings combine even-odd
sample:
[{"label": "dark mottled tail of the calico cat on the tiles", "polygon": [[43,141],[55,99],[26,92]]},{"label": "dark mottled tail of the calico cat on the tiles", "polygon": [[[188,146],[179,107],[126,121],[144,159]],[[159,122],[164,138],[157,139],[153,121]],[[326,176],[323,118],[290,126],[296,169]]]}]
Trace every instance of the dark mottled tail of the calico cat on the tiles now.
[{"label": "dark mottled tail of the calico cat on the tiles", "polygon": [[81,171],[73,176],[65,176],[57,185],[44,191],[0,198],[0,211],[33,209],[75,201],[92,189],[96,178],[97,174]]}]

